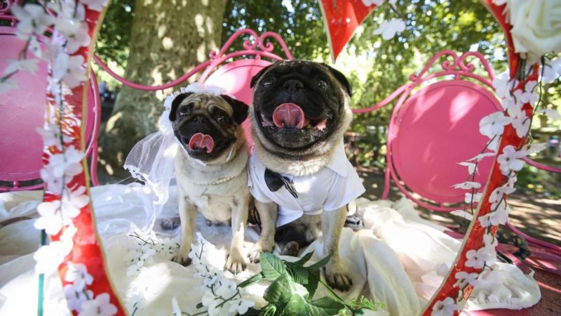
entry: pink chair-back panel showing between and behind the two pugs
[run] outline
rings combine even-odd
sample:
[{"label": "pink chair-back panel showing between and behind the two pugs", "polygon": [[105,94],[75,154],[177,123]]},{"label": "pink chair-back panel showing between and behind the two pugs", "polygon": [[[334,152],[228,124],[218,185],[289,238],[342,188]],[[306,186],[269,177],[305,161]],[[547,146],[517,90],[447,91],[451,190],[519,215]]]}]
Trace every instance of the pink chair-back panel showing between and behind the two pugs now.
[{"label": "pink chair-back panel showing between and behind the two pugs", "polygon": [[[229,94],[251,106],[253,94],[253,90],[250,88],[251,79],[268,65],[271,65],[271,62],[261,59],[236,60],[213,72],[205,84],[224,88]],[[250,119],[246,119],[242,126],[245,138],[248,140],[248,148],[251,148],[253,141]]]}]

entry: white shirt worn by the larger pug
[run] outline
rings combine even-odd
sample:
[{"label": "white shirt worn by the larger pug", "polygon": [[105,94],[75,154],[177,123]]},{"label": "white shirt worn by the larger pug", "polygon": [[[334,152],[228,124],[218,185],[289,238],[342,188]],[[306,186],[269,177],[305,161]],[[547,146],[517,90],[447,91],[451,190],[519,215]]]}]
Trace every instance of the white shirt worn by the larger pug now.
[{"label": "white shirt worn by the larger pug", "polygon": [[334,211],[349,204],[365,192],[358,173],[347,159],[343,143],[335,148],[333,157],[323,169],[309,176],[281,174],[294,183],[298,197],[286,187],[272,192],[265,182],[264,164],[254,151],[248,166],[250,192],[263,203],[278,204],[277,227],[306,215]]}]

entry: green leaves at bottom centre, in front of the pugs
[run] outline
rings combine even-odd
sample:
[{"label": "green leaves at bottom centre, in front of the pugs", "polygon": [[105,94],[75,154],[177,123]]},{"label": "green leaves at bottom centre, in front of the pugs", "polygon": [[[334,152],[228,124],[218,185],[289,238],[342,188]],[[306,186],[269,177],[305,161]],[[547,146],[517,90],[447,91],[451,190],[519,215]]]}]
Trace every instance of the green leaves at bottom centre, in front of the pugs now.
[{"label": "green leaves at bottom centre, in front of the pugs", "polygon": [[[320,282],[320,269],[330,261],[331,255],[313,265],[304,266],[313,252],[299,261],[284,261],[273,254],[261,253],[261,272],[238,284],[238,288],[266,279],[271,285],[265,290],[263,298],[268,302],[262,308],[251,308],[245,315],[290,315],[323,316],[339,312],[361,315],[363,309],[375,310],[383,305],[375,304],[364,297],[360,301],[345,303],[323,282]],[[322,284],[332,294],[313,300],[318,284]]]}]

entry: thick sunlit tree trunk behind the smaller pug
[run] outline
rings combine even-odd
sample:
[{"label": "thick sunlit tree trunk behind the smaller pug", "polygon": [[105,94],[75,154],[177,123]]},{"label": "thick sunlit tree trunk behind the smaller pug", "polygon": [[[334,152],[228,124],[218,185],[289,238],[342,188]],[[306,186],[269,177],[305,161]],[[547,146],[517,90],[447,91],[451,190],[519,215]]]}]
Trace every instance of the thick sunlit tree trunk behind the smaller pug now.
[{"label": "thick sunlit tree trunk behind the smaller pug", "polygon": [[[137,0],[124,77],[163,84],[207,60],[210,50],[221,44],[225,7],[226,0]],[[122,86],[99,142],[100,163],[109,176],[126,174],[122,166],[128,152],[156,131],[163,97],[170,91]]]}]

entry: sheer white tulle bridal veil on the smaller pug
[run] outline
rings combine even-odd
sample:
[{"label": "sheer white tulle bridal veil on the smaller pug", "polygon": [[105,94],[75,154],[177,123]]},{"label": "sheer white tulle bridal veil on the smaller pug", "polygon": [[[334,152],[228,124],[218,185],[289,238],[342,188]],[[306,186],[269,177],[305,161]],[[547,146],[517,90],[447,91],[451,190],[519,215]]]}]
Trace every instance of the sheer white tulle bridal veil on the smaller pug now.
[{"label": "sheer white tulle bridal veil on the smaller pug", "polygon": [[188,92],[215,96],[226,93],[223,88],[205,86],[196,82],[180,88],[180,92],[170,94],[163,103],[165,109],[159,119],[159,131],[140,140],[128,153],[124,168],[133,178],[142,181],[145,189],[150,190],[149,193],[154,197],[151,202],[144,203],[147,220],[143,227],[139,227],[140,230],[151,230],[154,228],[156,218],[173,215],[162,214],[162,211],[169,199],[170,184],[175,180],[175,155],[177,150],[180,148],[184,150],[184,148],[173,135],[169,117],[173,99],[180,93]]}]

